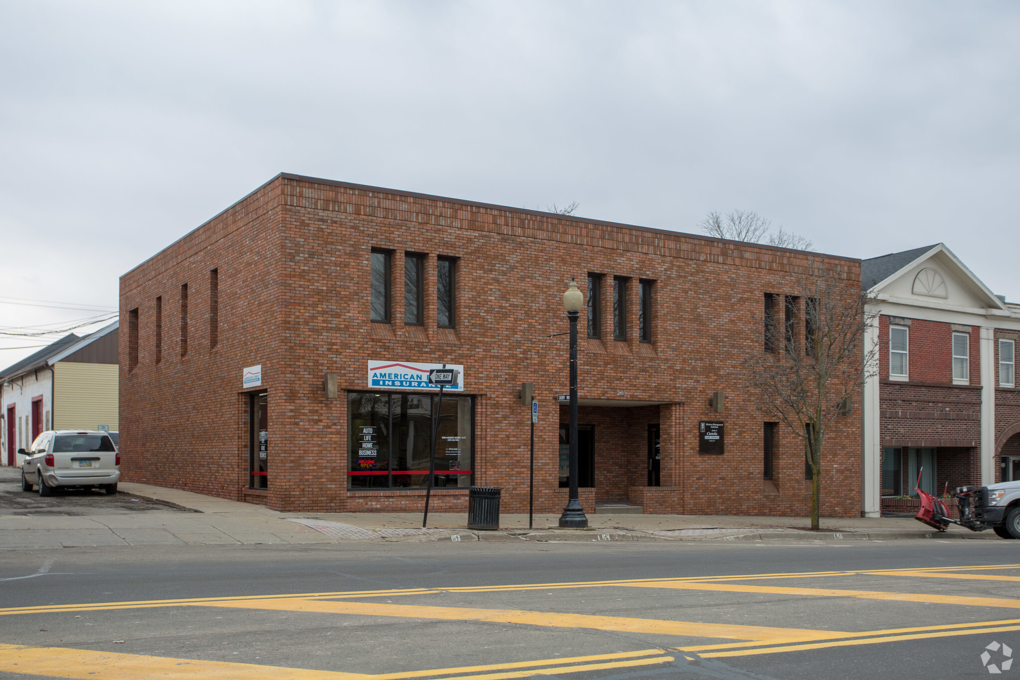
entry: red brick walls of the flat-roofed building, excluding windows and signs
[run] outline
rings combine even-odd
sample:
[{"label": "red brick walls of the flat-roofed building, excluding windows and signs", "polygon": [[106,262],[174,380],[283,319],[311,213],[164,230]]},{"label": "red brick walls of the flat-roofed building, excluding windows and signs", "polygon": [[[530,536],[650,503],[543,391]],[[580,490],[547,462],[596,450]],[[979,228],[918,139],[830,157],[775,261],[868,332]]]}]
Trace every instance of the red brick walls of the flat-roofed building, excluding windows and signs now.
[{"label": "red brick walls of the flat-roofed building, excluding windows and signs", "polygon": [[[393,323],[368,322],[369,253],[395,250]],[[403,324],[402,254],[427,253],[425,324]],[[458,262],[457,328],[436,327],[437,256]],[[465,394],[477,397],[475,483],[504,487],[505,512],[527,508],[527,407],[516,391],[536,383],[536,509],[558,512],[558,406],[567,390],[567,329],[560,296],[589,271],[632,277],[629,337],[614,342],[604,305],[601,343],[581,342],[580,396],[665,402],[662,484],[671,512],[806,514],[803,446],[780,432],[774,487],[761,480],[762,417],[741,389],[742,359],[761,351],[762,295],[789,287],[787,271],[823,256],[692,234],[584,220],[340,182],[282,176],[121,277],[121,312],[140,309],[139,364],[121,344],[121,449],[125,480],[242,499],[247,430],[241,369],[261,364],[269,394],[269,489],[279,510],[416,510],[419,491],[348,491],[344,390],[365,389],[366,361],[465,365]],[[859,286],[860,265],[828,258]],[[218,269],[218,344],[209,348],[209,270]],[[653,343],[636,341],[638,278],[656,281]],[[608,279],[607,279],[608,280]],[[177,291],[189,284],[189,351],[174,351]],[[609,285],[604,286],[607,297]],[[154,362],[152,323],[163,299],[163,358]],[[583,314],[580,327],[584,328]],[[583,330],[582,330],[583,336]],[[342,397],[324,398],[325,372]],[[726,394],[713,414],[711,393]],[[620,393],[623,393],[621,396]],[[597,409],[606,461],[596,489],[624,498],[644,483],[653,411]],[[617,415],[609,413],[616,411]],[[628,416],[632,416],[628,418]],[[726,423],[726,454],[700,456],[697,423]],[[582,417],[583,420],[583,417]],[[613,422],[615,421],[615,422]],[[598,454],[597,454],[598,455]],[[840,418],[826,442],[823,512],[859,513],[860,419]],[[597,475],[600,469],[597,463]],[[603,486],[601,485],[605,485]],[[668,490],[662,490],[668,489]],[[622,494],[622,495],[621,495]],[[250,496],[250,494],[248,494]],[[445,490],[434,509],[463,510],[464,490]]]}]

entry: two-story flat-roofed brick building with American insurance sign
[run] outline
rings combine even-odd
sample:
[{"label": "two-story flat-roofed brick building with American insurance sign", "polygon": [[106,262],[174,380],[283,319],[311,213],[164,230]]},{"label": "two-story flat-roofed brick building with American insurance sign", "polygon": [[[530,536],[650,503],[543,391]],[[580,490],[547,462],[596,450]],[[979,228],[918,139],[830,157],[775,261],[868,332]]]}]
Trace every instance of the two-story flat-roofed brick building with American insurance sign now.
[{"label": "two-story flat-roofed brick building with American insurance sign", "polygon": [[[518,390],[533,382],[536,509],[559,512],[574,277],[585,511],[805,515],[803,444],[776,429],[764,478],[770,424],[737,369],[763,351],[763,296],[822,262],[858,290],[854,259],[280,174],[121,277],[123,478],[279,510],[419,511],[422,372],[447,363],[463,372],[432,507],[463,511],[486,484],[526,511]],[[717,453],[699,453],[703,422],[723,424]],[[827,439],[826,515],[860,513],[860,437],[848,417]]]}]

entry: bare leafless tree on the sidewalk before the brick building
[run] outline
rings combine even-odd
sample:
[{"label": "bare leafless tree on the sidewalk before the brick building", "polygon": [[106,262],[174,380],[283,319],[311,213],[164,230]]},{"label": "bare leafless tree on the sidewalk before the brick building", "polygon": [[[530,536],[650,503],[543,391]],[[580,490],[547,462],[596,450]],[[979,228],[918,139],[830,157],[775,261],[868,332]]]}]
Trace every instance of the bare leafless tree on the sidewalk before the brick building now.
[{"label": "bare leafless tree on the sidewalk before the brick building", "polygon": [[811,469],[811,528],[819,528],[822,454],[836,419],[877,374],[877,343],[864,347],[876,316],[858,281],[831,262],[795,273],[784,295],[766,298],[764,347],[745,362],[743,376],[758,410],[804,441]]}]

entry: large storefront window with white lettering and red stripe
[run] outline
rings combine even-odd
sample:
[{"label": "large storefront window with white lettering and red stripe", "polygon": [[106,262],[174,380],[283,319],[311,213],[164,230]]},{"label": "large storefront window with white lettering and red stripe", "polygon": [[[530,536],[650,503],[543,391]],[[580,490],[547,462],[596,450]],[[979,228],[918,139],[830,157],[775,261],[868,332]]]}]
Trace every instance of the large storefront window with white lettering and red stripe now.
[{"label": "large storefront window with white lettering and red stripe", "polygon": [[[349,393],[348,486],[428,485],[432,409],[438,395]],[[474,398],[443,396],[432,486],[471,485]]]}]

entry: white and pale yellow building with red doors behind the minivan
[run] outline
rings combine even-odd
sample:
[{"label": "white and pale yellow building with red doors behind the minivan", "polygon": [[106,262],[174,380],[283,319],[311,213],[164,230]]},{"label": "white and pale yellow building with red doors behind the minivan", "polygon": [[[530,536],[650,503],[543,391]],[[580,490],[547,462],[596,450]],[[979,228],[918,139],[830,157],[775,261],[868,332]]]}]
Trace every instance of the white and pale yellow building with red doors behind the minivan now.
[{"label": "white and pale yellow building with red doors behind the minivan", "polygon": [[118,429],[117,328],[70,333],[0,372],[0,464],[44,430]]}]

